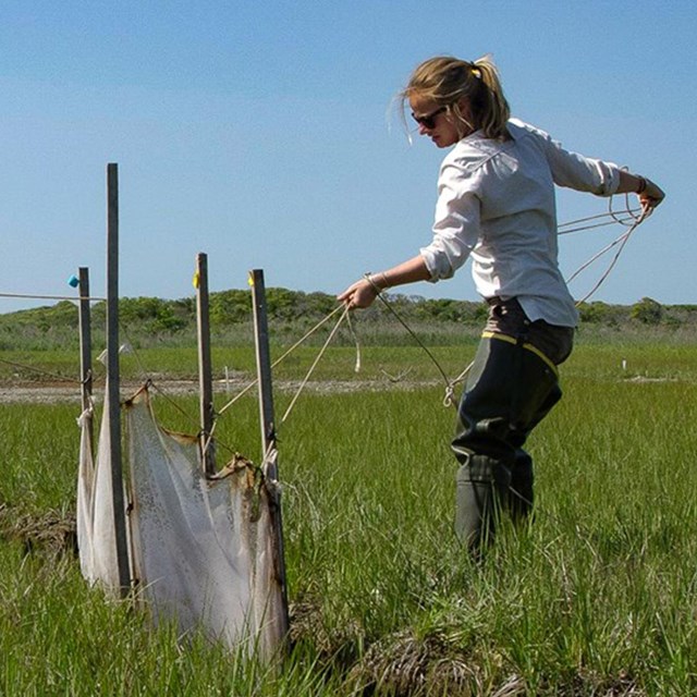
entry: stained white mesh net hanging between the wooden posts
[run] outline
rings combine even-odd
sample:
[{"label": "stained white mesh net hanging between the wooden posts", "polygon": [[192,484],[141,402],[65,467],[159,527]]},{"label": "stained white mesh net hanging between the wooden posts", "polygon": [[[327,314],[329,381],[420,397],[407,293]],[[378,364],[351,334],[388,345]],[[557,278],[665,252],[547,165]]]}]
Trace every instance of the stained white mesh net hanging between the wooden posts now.
[{"label": "stained white mesh net hanging between the wooden posts", "polygon": [[[276,451],[261,468],[235,456],[207,478],[197,440],[162,429],[145,388],[125,404],[125,426],[131,575],[154,624],[173,621],[183,635],[203,628],[230,648],[271,658],[286,632],[276,492],[264,476]],[[86,430],[77,492],[81,566],[89,582],[115,589],[108,430],[102,421],[93,467]]]}]

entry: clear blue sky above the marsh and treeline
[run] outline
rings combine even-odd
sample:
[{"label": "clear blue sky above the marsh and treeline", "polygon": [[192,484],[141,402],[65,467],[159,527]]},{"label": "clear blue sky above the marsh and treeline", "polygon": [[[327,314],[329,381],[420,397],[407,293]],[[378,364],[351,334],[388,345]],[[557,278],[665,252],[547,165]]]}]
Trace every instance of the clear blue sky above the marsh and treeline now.
[{"label": "clear blue sky above the marsh and treeline", "polygon": [[[121,295],[191,295],[198,252],[212,291],[262,268],[338,293],[431,236],[444,152],[409,145],[393,96],[426,58],[491,52],[515,115],[668,194],[592,299],[697,303],[692,0],[7,0],[0,52],[1,293],[74,294],[86,266],[103,294],[108,162]],[[559,209],[607,200],[564,192]],[[565,274],[621,232],[562,237]],[[476,298],[468,266],[404,292]]]}]

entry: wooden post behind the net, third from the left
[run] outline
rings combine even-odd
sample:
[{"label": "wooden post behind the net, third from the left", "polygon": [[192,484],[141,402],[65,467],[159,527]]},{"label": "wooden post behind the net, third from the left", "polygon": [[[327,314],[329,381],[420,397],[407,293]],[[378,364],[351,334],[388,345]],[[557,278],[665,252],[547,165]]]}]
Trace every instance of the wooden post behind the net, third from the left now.
[{"label": "wooden post behind the net, third from the left", "polygon": [[[216,474],[216,451],[210,433],[213,428],[213,387],[210,360],[210,314],[208,305],[208,256],[196,256],[196,319],[198,325],[198,386],[200,399],[201,465],[207,475]],[[210,439],[210,440],[209,440]]]}]

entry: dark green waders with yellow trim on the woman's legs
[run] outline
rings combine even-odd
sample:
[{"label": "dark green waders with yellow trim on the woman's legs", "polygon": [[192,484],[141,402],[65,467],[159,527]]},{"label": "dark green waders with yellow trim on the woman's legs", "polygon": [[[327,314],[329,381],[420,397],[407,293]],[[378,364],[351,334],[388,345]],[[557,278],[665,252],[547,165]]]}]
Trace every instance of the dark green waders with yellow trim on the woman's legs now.
[{"label": "dark green waders with yellow trim on the woman's legs", "polygon": [[530,513],[533,460],[523,445],[561,395],[554,364],[524,338],[482,334],[452,441],[461,464],[455,533],[475,554],[492,541],[502,511],[515,521]]}]

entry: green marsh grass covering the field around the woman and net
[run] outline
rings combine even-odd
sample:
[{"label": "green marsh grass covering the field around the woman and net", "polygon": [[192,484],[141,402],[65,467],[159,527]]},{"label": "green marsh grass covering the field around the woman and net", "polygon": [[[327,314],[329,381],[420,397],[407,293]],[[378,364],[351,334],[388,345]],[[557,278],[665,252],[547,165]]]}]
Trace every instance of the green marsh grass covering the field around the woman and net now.
[{"label": "green marsh grass covering the field around the woman and net", "polygon": [[[436,348],[451,376],[473,352]],[[179,354],[138,359],[193,374],[195,355]],[[277,378],[302,379],[314,355],[298,352]],[[582,338],[562,368],[565,398],[529,442],[535,521],[504,527],[480,566],[452,534],[454,411],[437,370],[408,347],[365,346],[362,358],[356,375],[355,348],[332,350],[317,379],[384,389],[307,391],[279,429],[294,639],[280,671],[151,631],[86,586],[68,545],[27,543],[21,521],[74,511],[78,404],[1,404],[0,692],[695,694],[694,347]],[[253,360],[244,347],[215,357],[247,376]],[[291,396],[277,391],[277,414]],[[193,398],[176,401],[197,413]],[[192,430],[169,401],[156,411]],[[218,436],[256,458],[256,419],[245,398]]]}]

